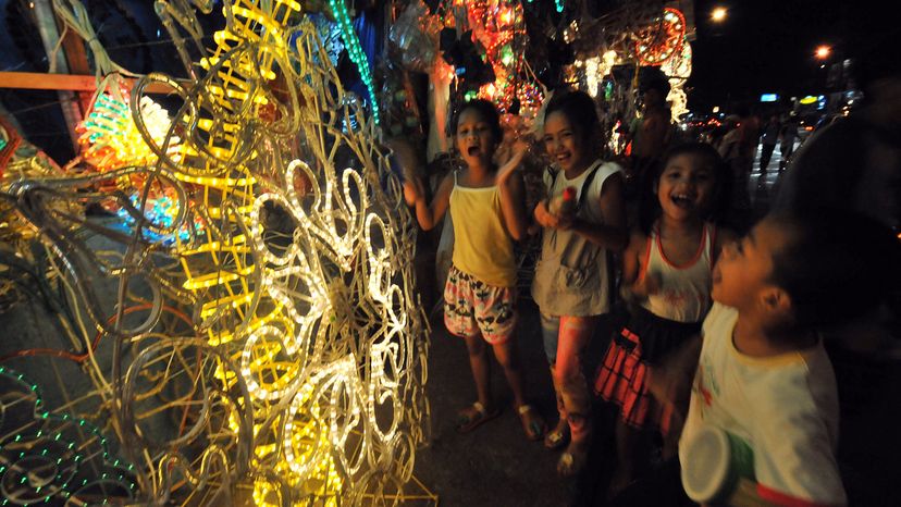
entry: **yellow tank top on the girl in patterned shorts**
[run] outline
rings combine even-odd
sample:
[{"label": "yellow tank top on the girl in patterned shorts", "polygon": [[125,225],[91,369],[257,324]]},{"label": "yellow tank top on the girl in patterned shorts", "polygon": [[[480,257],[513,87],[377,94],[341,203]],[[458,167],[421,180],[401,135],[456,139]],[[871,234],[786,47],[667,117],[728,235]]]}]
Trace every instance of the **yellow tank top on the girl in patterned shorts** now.
[{"label": "yellow tank top on the girl in patterned shorts", "polygon": [[504,226],[497,186],[460,186],[455,173],[450,219],[454,221],[454,265],[489,285],[515,286],[513,240]]}]

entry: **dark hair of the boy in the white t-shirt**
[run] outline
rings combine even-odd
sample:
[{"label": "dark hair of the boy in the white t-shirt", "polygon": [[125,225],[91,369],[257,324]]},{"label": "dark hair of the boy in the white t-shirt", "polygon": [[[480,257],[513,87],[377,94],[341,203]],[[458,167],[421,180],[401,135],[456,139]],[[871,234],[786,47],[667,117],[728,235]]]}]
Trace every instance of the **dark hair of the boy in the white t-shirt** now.
[{"label": "dark hair of the boy in the white t-shirt", "polygon": [[794,319],[822,329],[864,316],[901,282],[901,243],[863,214],[820,208],[770,219],[788,232],[770,282],[788,293]]}]

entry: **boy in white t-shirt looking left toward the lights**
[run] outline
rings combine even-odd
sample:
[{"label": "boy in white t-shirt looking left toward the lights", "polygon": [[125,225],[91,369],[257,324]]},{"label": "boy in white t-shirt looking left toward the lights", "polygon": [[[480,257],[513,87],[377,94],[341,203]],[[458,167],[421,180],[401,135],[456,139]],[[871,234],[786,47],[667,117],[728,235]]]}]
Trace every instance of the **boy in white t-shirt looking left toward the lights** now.
[{"label": "boy in white t-shirt looking left toward the lights", "polygon": [[[888,228],[824,209],[767,217],[725,248],[716,302],[681,369],[694,372],[682,468],[695,469],[686,444],[709,424],[749,443],[764,502],[844,505],[836,381],[818,331],[876,307],[899,282],[899,258]],[[679,370],[653,379],[655,395],[678,399]]]}]

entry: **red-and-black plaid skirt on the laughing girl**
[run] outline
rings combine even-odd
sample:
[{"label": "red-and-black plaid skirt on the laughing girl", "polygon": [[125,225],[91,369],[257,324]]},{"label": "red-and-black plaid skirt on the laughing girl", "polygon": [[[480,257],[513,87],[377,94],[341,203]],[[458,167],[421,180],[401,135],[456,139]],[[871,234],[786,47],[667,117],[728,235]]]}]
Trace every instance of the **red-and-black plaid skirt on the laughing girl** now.
[{"label": "red-and-black plaid skirt on the laughing girl", "polygon": [[676,322],[640,308],[610,341],[594,393],[618,405],[625,423],[668,433],[672,409],[658,404],[647,391],[647,371],[700,332],[701,322]]}]

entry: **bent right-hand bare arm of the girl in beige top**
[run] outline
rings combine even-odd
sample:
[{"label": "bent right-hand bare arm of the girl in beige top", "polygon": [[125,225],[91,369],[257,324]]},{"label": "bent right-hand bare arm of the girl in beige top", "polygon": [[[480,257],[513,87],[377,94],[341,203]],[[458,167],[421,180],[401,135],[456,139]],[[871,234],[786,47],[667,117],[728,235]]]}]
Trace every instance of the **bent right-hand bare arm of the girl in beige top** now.
[{"label": "bent right-hand bare arm of the girl in beige top", "polygon": [[622,201],[622,175],[616,173],[607,177],[601,189],[601,213],[604,217],[603,224],[585,222],[580,219],[560,220],[560,228],[571,228],[589,242],[604,247],[610,251],[618,252],[626,248],[629,243],[629,234],[626,231],[626,210]]}]

